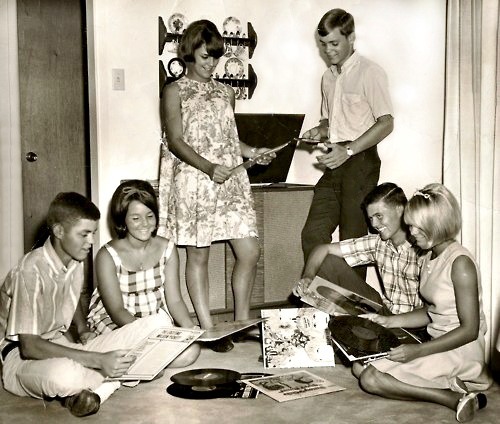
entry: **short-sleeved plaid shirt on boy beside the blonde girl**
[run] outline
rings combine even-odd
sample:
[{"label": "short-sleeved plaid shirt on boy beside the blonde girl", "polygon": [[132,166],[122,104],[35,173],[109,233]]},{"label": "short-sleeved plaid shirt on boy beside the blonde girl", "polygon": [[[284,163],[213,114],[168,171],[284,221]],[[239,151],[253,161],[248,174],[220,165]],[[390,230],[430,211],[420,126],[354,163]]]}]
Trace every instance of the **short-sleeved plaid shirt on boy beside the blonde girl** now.
[{"label": "short-sleeved plaid shirt on boy beside the blonde girl", "polygon": [[419,294],[420,271],[425,252],[408,241],[394,246],[378,234],[343,240],[340,250],[350,266],[373,264],[382,280],[382,300],[394,314],[423,305]]}]

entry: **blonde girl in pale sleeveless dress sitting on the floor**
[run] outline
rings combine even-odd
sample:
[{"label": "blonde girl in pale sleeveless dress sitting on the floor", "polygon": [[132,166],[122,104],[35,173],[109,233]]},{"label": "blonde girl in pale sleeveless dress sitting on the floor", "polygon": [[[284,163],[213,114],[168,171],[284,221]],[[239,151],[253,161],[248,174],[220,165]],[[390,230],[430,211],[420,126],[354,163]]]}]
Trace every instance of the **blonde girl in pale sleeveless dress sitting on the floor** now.
[{"label": "blonde girl in pale sleeveless dress sitting on the floor", "polygon": [[455,237],[460,207],[442,184],[430,184],[408,202],[404,219],[417,245],[429,250],[422,267],[422,309],[364,317],[385,327],[427,325],[431,340],[391,349],[387,359],[353,365],[361,387],[400,400],[433,402],[455,410],[457,421],[472,420],[486,406],[480,391],[491,385],[485,364],[486,321],[478,266]]}]

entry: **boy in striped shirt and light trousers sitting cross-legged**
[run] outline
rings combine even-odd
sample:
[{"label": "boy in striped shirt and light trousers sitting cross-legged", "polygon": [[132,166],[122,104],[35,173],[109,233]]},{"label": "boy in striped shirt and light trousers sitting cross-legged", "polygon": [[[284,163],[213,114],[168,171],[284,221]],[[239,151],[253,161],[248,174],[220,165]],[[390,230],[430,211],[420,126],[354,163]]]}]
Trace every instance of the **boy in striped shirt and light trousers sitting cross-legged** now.
[{"label": "boy in striped shirt and light trousers sitting cross-legged", "polygon": [[[83,260],[94,243],[100,212],[78,193],[59,193],[47,214],[50,237],[27,253],[0,287],[0,361],[5,390],[60,398],[75,416],[98,411],[134,361],[126,353],[155,328],[156,316],[109,334],[89,331],[80,307]],[[75,324],[79,340],[70,341]]]}]

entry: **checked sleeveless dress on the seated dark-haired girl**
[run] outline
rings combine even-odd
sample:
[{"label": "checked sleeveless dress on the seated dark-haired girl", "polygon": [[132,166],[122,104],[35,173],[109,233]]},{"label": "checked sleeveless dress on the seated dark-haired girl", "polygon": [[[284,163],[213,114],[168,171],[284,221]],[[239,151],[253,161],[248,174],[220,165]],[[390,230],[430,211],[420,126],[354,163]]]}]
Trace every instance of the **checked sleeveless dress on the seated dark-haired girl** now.
[{"label": "checked sleeveless dress on the seated dark-haired girl", "polygon": [[[171,325],[174,325],[165,299],[164,272],[168,259],[175,248],[174,242],[169,241],[159,262],[154,267],[141,271],[129,271],[123,266],[118,252],[113,247],[109,244],[104,247],[115,263],[125,309],[136,318],[158,313],[166,314],[168,317],[167,323],[170,321]],[[87,322],[90,329],[97,334],[118,328],[106,311],[98,288],[92,293]]]}]

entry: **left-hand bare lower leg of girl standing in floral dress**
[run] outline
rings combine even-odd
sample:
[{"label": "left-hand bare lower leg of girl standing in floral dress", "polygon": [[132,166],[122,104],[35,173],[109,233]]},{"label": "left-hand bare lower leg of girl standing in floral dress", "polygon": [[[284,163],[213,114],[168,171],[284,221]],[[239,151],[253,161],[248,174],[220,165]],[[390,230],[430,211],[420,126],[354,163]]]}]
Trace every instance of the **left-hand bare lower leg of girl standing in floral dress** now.
[{"label": "left-hand bare lower leg of girl standing in floral dress", "polygon": [[209,305],[209,255],[210,247],[187,247],[186,285],[201,328],[213,326]]}]

